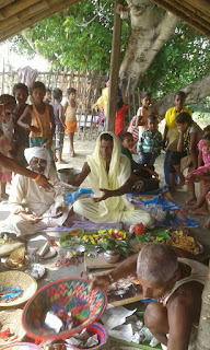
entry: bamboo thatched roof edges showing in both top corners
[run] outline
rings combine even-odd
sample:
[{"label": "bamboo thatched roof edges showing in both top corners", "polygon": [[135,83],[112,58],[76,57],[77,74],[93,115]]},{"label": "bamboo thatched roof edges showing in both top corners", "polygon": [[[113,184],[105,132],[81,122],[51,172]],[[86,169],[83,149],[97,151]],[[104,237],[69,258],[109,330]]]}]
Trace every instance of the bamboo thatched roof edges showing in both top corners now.
[{"label": "bamboo thatched roof edges showing in both top corners", "polygon": [[[0,0],[0,42],[81,0]],[[89,0],[86,0],[89,1]],[[210,36],[210,0],[151,0]]]}]

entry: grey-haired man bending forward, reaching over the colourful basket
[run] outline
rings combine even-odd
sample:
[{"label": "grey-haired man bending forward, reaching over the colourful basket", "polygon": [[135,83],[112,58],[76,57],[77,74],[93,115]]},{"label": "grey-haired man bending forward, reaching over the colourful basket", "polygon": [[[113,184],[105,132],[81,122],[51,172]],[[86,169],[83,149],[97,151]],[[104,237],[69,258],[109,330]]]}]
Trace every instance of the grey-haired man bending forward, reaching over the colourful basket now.
[{"label": "grey-haired man bending forward, reaching over the colourful basket", "polygon": [[139,255],[122,261],[109,273],[92,281],[92,288],[108,288],[118,279],[137,272],[143,298],[160,299],[150,303],[144,324],[167,350],[192,350],[201,310],[201,293],[208,267],[176,257],[165,244],[149,243]]}]

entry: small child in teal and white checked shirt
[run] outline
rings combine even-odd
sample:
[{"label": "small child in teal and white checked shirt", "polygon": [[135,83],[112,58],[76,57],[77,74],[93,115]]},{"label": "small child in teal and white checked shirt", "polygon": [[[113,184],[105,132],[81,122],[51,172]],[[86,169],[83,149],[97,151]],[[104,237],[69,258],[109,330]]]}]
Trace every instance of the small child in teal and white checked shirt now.
[{"label": "small child in teal and white checked shirt", "polygon": [[159,121],[155,115],[151,115],[147,118],[148,129],[142,132],[139,139],[137,150],[139,153],[139,164],[147,165],[151,170],[154,170],[154,162],[161,154],[163,147],[163,139],[159,129]]}]

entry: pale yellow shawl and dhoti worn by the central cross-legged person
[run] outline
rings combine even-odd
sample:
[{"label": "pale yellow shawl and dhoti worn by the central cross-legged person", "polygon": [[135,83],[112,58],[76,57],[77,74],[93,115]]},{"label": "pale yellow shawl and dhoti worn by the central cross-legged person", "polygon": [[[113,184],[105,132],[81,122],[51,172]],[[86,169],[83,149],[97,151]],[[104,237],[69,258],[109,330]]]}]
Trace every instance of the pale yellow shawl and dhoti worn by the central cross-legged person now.
[{"label": "pale yellow shawl and dhoti worn by the central cross-legged person", "polygon": [[[100,152],[101,136],[103,133],[109,133],[114,140],[108,173],[106,172],[106,162]],[[130,162],[126,155],[120,153],[119,140],[112,132],[105,131],[100,135],[93,155],[88,156],[88,164],[91,170],[88,179],[94,197],[102,196],[100,188],[109,190],[117,189],[130,177]],[[122,221],[128,224],[136,224],[142,222],[148,226],[153,222],[151,215],[144,210],[136,209],[135,206],[128,201],[126,195],[110,197],[98,203],[94,203],[89,198],[79,199],[73,205],[73,211],[96,223]]]}]

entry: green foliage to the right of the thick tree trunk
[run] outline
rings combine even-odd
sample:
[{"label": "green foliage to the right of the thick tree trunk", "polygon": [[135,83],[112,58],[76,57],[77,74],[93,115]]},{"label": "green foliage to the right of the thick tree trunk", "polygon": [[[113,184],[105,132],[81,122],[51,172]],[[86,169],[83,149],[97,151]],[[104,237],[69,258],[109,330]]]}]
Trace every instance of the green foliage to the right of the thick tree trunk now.
[{"label": "green foliage to the right of the thick tree trunk", "polygon": [[174,35],[159,51],[141,81],[141,90],[161,98],[210,71],[210,39],[179,23]]}]

